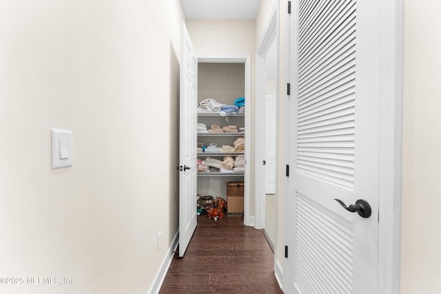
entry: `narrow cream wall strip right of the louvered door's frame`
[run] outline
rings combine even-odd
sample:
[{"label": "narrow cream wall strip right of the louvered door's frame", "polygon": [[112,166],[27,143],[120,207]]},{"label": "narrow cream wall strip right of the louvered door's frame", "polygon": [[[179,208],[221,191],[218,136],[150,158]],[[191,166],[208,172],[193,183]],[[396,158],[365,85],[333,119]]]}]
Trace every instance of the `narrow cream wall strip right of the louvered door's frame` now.
[{"label": "narrow cream wall strip right of the louvered door's frame", "polygon": [[441,293],[440,1],[404,1],[401,293]]}]

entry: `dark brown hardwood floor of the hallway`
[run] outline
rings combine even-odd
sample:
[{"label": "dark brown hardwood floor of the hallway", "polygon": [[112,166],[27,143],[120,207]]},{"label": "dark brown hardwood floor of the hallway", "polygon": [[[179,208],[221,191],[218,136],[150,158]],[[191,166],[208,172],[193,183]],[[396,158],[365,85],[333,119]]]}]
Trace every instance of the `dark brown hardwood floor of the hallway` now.
[{"label": "dark brown hardwood floor of the hallway", "polygon": [[201,215],[183,258],[175,253],[160,294],[283,293],[274,276],[274,255],[261,230],[240,216]]}]

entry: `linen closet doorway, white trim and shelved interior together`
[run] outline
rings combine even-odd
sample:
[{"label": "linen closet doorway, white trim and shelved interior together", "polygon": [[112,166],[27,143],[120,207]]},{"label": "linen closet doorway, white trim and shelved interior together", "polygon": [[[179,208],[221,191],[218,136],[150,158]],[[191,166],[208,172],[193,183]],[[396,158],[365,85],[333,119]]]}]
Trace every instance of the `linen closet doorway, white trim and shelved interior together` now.
[{"label": "linen closet doorway, white trim and shelved interior together", "polygon": [[[218,127],[217,131],[219,131],[198,132],[198,145],[205,148],[212,146],[216,149],[215,152],[205,152],[207,149],[203,152],[198,151],[198,160],[234,160],[234,167],[230,171],[221,169],[206,174],[198,173],[198,196],[223,198],[227,201],[228,215],[243,216],[245,225],[254,224],[249,209],[251,202],[249,193],[250,78],[250,56],[248,55],[198,56],[198,103],[211,99],[222,105],[235,105],[236,100],[245,99],[245,105],[239,107],[238,113],[225,115],[198,112],[199,124],[205,125],[207,131],[213,130],[214,127]],[[243,149],[236,148],[235,144],[238,140],[245,142]],[[227,150],[224,147],[233,149]],[[238,162],[242,162],[240,167],[237,166]],[[241,190],[242,195],[236,195],[236,187],[232,188],[234,195],[231,195],[229,187],[232,187],[232,182],[240,184],[238,189]]]}]

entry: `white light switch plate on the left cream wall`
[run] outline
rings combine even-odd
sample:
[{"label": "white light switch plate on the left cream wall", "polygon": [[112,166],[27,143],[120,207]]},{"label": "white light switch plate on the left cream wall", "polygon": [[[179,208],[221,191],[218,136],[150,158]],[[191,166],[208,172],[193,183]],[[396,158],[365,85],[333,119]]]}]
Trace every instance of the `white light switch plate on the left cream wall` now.
[{"label": "white light switch plate on the left cream wall", "polygon": [[67,129],[51,129],[52,169],[72,167],[73,141],[72,131]]}]

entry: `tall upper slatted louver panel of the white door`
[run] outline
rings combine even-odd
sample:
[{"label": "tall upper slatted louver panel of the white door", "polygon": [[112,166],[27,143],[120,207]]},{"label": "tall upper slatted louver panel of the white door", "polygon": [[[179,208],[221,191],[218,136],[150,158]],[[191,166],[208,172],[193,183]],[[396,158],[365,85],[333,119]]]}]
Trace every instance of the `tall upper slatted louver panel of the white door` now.
[{"label": "tall upper slatted louver panel of the white door", "polygon": [[353,189],[356,1],[300,1],[298,38],[297,170]]}]

